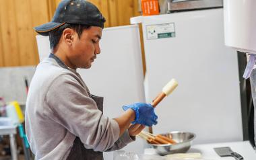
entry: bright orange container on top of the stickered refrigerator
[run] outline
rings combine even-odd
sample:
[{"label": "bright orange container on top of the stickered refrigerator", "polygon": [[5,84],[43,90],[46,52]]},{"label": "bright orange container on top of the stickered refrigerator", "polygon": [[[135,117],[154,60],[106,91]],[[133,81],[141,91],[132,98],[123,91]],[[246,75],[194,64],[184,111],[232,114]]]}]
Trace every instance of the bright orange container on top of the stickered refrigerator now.
[{"label": "bright orange container on top of the stickered refrigerator", "polygon": [[141,0],[142,15],[158,15],[158,0]]}]

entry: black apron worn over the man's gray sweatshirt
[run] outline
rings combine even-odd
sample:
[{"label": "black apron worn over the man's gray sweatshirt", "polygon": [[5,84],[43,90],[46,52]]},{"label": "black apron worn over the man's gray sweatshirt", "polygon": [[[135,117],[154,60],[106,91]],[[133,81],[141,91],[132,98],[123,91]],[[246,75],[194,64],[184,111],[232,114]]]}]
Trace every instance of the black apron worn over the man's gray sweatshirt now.
[{"label": "black apron worn over the man's gray sweatshirt", "polygon": [[[92,99],[97,104],[98,110],[103,113],[103,97],[92,95]],[[103,160],[103,153],[92,149],[86,149],[80,138],[77,136],[67,157],[67,160]]]}]

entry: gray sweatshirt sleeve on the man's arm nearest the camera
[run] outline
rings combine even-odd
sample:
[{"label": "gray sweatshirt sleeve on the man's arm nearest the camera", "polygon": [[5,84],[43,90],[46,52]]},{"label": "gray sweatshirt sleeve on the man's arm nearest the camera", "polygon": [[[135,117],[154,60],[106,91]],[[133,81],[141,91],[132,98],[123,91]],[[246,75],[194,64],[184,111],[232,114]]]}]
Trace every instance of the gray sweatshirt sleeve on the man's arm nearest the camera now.
[{"label": "gray sweatshirt sleeve on the man's arm nearest the camera", "polygon": [[79,136],[86,149],[106,151],[119,138],[119,124],[103,116],[86,89],[71,75],[60,75],[45,96],[49,118]]}]

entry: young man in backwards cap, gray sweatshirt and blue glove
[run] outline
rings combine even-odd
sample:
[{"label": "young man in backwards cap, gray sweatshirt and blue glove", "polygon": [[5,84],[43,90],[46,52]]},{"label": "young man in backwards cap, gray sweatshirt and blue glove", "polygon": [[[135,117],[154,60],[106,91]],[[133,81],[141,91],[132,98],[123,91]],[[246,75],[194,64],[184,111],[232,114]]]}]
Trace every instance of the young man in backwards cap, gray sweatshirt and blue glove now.
[{"label": "young man in backwards cap, gray sweatshirt and blue glove", "polygon": [[92,95],[76,72],[100,54],[104,22],[92,3],[64,0],[52,22],[35,28],[49,35],[52,49],[36,68],[26,103],[26,134],[36,159],[103,159],[103,151],[125,147],[145,125],[157,123],[154,108],[143,103],[104,117],[103,98]]}]

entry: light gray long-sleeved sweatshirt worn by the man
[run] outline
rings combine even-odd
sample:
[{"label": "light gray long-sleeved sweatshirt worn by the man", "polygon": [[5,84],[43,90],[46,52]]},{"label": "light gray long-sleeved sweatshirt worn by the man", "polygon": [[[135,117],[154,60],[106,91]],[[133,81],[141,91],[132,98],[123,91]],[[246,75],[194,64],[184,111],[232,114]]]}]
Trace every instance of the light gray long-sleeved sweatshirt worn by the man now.
[{"label": "light gray long-sleeved sweatshirt worn by the man", "polygon": [[36,159],[67,159],[76,136],[86,149],[113,151],[133,141],[105,117],[73,69],[46,58],[36,68],[26,102],[26,134]]}]

